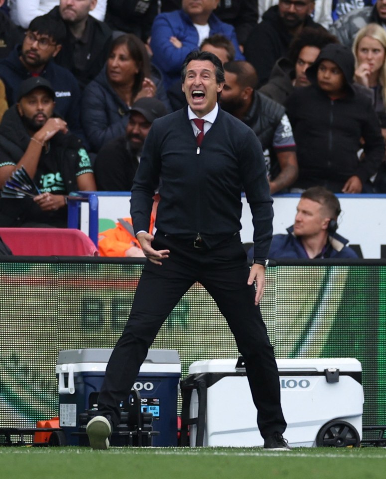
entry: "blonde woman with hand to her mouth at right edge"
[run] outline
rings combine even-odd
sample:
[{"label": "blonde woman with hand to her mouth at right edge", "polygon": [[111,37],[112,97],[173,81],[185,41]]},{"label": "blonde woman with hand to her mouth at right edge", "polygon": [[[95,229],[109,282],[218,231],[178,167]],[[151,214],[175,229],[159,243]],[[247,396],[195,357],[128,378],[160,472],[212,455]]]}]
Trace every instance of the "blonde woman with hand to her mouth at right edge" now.
[{"label": "blonde woman with hand to her mouth at right edge", "polygon": [[[355,37],[353,52],[355,81],[372,91],[373,106],[386,139],[386,31],[378,23],[364,26]],[[369,186],[374,193],[386,193],[385,158]]]}]

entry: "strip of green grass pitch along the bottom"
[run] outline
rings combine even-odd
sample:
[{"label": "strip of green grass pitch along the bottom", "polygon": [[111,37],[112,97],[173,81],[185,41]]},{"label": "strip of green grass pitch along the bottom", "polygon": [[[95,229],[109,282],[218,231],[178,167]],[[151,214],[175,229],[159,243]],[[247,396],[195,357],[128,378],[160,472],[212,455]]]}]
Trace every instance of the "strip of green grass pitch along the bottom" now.
[{"label": "strip of green grass pitch along the bottom", "polygon": [[6,479],[384,479],[386,449],[0,447]]}]

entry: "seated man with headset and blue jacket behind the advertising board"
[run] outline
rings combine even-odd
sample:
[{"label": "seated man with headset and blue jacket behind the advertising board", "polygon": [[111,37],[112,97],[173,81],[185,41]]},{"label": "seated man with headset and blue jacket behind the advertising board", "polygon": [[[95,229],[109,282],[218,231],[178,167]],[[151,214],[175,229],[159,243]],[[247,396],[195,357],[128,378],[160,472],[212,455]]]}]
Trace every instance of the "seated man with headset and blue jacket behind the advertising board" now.
[{"label": "seated man with headset and blue jacket behind the advertising board", "polygon": [[336,233],[341,212],[338,198],[315,186],[305,190],[296,208],[295,224],[287,235],[273,235],[268,258],[357,258]]}]

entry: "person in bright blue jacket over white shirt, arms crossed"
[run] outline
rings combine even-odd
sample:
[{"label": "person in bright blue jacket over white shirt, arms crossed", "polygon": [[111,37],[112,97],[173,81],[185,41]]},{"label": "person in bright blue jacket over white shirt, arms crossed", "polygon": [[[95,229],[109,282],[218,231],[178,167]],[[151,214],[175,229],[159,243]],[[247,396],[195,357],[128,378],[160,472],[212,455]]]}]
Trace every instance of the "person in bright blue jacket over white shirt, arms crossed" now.
[{"label": "person in bright blue jacket over white shirt, arms crossed", "polygon": [[150,41],[152,62],[161,70],[166,90],[179,79],[186,55],[198,50],[202,41],[215,33],[232,40],[236,60],[245,59],[235,28],[213,13],[218,4],[219,0],[182,0],[181,10],[160,13],[155,17]]}]

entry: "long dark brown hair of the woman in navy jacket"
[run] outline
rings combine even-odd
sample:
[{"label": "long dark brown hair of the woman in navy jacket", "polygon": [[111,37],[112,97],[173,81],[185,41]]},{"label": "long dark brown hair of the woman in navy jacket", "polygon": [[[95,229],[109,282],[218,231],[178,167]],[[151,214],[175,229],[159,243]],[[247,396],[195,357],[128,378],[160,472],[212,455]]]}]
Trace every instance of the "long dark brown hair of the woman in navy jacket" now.
[{"label": "long dark brown hair of the woman in navy jacket", "polygon": [[110,45],[109,56],[120,45],[126,46],[130,57],[135,61],[138,68],[138,73],[134,75],[134,85],[132,87],[132,98],[135,98],[142,89],[144,78],[150,76],[149,55],[143,41],[133,33],[126,33],[115,38]]}]

